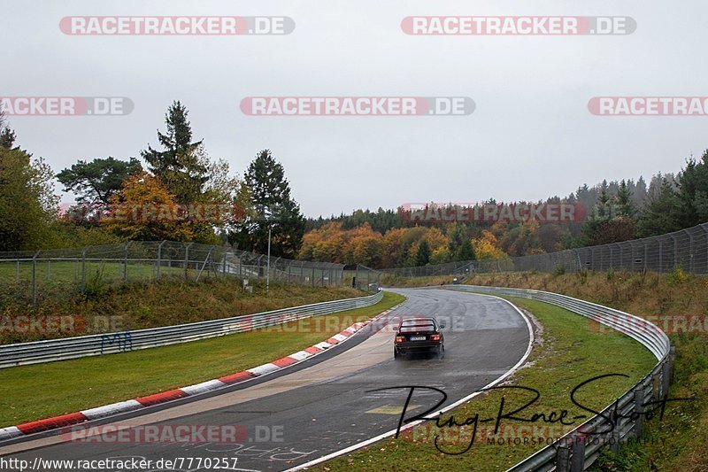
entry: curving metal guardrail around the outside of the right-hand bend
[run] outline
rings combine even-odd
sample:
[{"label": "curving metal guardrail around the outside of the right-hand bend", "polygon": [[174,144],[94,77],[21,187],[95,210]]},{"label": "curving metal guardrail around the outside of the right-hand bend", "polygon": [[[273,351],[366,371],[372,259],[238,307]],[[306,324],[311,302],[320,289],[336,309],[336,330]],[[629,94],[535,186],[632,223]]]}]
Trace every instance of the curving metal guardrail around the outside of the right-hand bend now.
[{"label": "curving metal guardrail around the outside of the right-hand bend", "polygon": [[[589,468],[600,455],[603,445],[609,445],[613,452],[619,451],[620,441],[625,437],[640,436],[643,431],[645,406],[651,401],[664,398],[668,393],[673,375],[674,348],[666,333],[658,326],[633,314],[620,312],[607,306],[596,305],[577,298],[559,295],[542,290],[511,289],[484,287],[479,285],[449,285],[450,289],[531,298],[586,316],[632,337],[650,350],[657,358],[657,365],[632,389],[611,405],[604,408],[602,414],[607,417],[616,407],[620,420],[614,429],[599,434],[598,428],[607,428],[602,416],[596,415],[573,429],[557,443],[548,445],[522,460],[507,472],[526,470],[534,471],[571,471],[580,472]],[[591,435],[591,436],[589,436]]]}]

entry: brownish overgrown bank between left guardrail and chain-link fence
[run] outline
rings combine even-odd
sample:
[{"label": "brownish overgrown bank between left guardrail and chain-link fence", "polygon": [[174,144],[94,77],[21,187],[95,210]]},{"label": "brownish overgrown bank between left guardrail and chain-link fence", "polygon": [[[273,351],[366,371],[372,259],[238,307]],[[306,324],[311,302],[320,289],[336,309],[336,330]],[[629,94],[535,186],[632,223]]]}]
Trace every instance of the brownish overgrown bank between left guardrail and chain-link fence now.
[{"label": "brownish overgrown bank between left guardrail and chain-link fence", "polygon": [[[271,285],[270,294],[266,295],[265,284],[260,282],[250,292],[243,289],[240,280],[230,278],[200,282],[165,278],[157,282],[98,285],[84,295],[69,291],[62,297],[44,299],[32,309],[11,293],[3,292],[4,288],[0,286],[0,344],[157,328],[365,295],[349,287],[278,284]],[[31,314],[59,314],[70,317],[72,322],[67,323],[67,329],[18,332],[21,324],[17,317]]]}]

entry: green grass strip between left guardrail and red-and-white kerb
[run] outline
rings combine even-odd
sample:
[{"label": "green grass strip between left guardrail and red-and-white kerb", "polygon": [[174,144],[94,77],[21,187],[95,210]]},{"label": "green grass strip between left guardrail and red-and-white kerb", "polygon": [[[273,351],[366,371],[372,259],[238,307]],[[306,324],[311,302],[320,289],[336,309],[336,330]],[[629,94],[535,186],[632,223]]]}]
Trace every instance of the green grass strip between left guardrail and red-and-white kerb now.
[{"label": "green grass strip between left guardrail and red-and-white kerb", "polygon": [[[326,340],[350,324],[396,306],[384,293],[376,305],[289,323],[309,332],[258,330],[78,360],[0,370],[0,427],[71,413],[253,368]],[[334,320],[334,321],[333,321]]]}]

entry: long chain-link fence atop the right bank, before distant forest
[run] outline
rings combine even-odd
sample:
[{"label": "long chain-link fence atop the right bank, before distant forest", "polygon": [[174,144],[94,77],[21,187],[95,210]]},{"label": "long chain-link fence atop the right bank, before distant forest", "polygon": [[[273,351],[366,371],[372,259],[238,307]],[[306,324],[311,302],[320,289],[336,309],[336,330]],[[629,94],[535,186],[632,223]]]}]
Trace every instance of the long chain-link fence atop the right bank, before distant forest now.
[{"label": "long chain-link fence atop the right bank, before distant forest", "polygon": [[505,259],[449,262],[375,271],[399,277],[469,275],[488,272],[577,272],[581,269],[670,272],[681,267],[708,274],[708,223],[661,236]]}]

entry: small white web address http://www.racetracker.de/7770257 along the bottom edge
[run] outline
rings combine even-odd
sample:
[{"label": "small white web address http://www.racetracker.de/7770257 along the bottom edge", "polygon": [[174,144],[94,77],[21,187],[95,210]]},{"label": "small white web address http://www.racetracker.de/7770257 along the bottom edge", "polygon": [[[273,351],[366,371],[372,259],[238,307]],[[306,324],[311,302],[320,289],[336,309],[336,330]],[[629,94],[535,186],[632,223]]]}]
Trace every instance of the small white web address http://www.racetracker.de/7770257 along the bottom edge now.
[{"label": "small white web address http://www.racetracker.de/7770257 along the bottom edge", "polygon": [[175,457],[150,460],[142,457],[91,460],[33,460],[0,457],[0,470],[25,472],[27,470],[94,470],[118,472],[127,470],[236,470],[235,457]]}]

